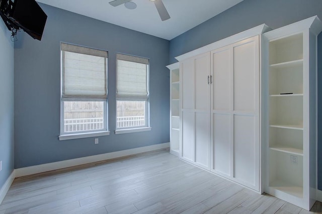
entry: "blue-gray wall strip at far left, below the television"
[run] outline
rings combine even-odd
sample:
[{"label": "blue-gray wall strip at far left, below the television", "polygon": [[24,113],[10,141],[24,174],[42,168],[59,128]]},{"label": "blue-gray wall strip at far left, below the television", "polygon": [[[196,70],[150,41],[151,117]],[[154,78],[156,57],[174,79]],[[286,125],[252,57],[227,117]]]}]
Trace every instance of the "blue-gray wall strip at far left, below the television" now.
[{"label": "blue-gray wall strip at far left, below the television", "polygon": [[14,44],[0,21],[0,189],[14,170]]}]

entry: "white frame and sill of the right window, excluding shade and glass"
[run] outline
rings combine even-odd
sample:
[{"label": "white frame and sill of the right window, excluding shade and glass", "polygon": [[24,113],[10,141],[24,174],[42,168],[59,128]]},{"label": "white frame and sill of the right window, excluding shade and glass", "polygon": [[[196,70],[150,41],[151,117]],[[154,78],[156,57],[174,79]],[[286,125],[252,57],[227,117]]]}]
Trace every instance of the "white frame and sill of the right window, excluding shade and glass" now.
[{"label": "white frame and sill of the right window, excluding shade and glass", "polygon": [[[130,60],[127,60],[126,58],[129,58]],[[121,58],[121,59],[120,59]],[[143,57],[135,57],[135,56],[131,56],[131,55],[125,55],[125,54],[117,54],[116,57],[116,91],[117,91],[117,68],[118,68],[118,60],[124,60],[124,61],[131,61],[134,62],[135,58],[140,58],[143,61],[146,61],[148,59],[143,58]],[[125,134],[125,133],[133,133],[133,132],[141,132],[141,131],[150,131],[151,127],[150,127],[150,96],[149,96],[149,73],[150,73],[150,65],[149,65],[149,60],[148,60],[148,64],[146,64],[146,90],[147,90],[147,99],[146,100],[140,100],[140,99],[134,99],[134,98],[122,98],[119,99],[116,96],[116,100],[115,100],[115,110],[116,110],[116,114],[115,114],[115,134]],[[122,128],[118,128],[117,127],[117,101],[145,101],[145,111],[144,111],[144,116],[145,116],[145,125],[144,126],[135,126],[135,127],[122,127]]]}]

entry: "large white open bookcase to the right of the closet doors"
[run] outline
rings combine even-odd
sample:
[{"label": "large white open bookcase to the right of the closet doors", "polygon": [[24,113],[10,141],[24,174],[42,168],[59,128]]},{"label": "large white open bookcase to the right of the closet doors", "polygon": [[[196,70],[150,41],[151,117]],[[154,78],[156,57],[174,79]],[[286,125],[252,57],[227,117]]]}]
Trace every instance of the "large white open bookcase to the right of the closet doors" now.
[{"label": "large white open bookcase to the right of the closet doors", "polygon": [[264,34],[269,53],[264,188],[305,209],[315,202],[316,38],[321,30],[312,17]]}]

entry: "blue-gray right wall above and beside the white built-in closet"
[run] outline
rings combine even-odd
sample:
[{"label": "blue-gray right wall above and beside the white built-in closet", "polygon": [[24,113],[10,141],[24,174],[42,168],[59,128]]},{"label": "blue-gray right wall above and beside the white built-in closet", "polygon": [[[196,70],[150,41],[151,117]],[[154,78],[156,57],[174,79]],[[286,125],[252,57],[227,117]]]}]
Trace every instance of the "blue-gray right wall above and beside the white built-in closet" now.
[{"label": "blue-gray right wall above and beside the white built-in closet", "polygon": [[[170,41],[174,57],[265,23],[272,29],[317,15],[321,0],[245,0]],[[318,133],[322,133],[322,34],[318,36]],[[318,189],[322,190],[322,136],[318,135]]]}]

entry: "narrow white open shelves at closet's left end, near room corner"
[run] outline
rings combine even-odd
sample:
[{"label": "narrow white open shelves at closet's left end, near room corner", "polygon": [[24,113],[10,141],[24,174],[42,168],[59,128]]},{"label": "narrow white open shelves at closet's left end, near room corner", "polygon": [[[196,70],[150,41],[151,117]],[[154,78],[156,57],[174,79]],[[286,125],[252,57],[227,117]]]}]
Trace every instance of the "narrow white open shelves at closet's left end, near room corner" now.
[{"label": "narrow white open shelves at closet's left end, near room corner", "polygon": [[179,156],[180,145],[180,76],[179,63],[170,69],[170,152]]}]

